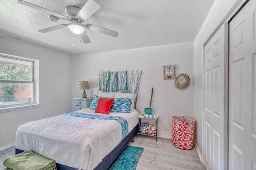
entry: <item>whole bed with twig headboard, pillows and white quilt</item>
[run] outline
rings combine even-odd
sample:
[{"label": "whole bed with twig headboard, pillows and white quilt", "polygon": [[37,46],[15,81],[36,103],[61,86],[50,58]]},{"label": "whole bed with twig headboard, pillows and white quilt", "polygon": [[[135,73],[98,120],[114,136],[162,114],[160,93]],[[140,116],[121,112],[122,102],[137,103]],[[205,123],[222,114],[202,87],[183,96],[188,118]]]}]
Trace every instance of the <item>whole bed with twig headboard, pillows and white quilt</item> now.
[{"label": "whole bed with twig headboard, pillows and white quilt", "polygon": [[[130,74],[101,71],[99,94],[90,108],[21,125],[16,132],[16,154],[31,150],[56,160],[58,170],[107,170],[138,133],[141,74],[139,70]],[[106,114],[99,104],[111,99]]]}]

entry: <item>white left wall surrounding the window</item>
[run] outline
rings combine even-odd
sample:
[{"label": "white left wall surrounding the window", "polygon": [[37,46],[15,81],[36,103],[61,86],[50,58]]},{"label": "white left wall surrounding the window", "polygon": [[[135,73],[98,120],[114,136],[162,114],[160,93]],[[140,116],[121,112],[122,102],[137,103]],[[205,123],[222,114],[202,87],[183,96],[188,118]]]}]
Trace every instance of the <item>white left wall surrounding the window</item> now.
[{"label": "white left wall surrounding the window", "polygon": [[24,123],[71,111],[71,56],[0,35],[0,53],[39,60],[40,107],[0,113],[0,150],[15,143]]}]

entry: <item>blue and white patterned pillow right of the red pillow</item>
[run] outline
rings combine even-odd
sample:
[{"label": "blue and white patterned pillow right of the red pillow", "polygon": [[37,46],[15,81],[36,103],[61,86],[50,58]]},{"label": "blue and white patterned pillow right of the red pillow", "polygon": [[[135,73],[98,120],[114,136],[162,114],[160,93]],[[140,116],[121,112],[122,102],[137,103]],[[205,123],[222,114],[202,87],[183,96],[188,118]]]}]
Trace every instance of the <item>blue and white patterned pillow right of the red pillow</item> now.
[{"label": "blue and white patterned pillow right of the red pillow", "polygon": [[131,99],[128,98],[115,98],[110,112],[121,112],[121,113],[130,113],[130,108],[132,105]]}]

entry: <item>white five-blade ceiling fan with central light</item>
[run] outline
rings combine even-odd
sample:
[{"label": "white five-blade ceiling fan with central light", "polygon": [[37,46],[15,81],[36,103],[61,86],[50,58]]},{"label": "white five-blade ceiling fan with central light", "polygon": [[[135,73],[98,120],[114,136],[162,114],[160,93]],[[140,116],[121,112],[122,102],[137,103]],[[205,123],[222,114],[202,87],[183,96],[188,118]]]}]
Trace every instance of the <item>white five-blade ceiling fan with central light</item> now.
[{"label": "white five-blade ceiling fan with central light", "polygon": [[24,0],[18,0],[18,3],[50,14],[48,16],[48,18],[53,22],[58,22],[58,20],[60,18],[63,20],[70,21],[69,24],[60,24],[60,25],[52,26],[49,28],[39,30],[38,32],[46,33],[46,32],[60,29],[60,28],[68,27],[68,29],[72,33],[79,34],[84,43],[91,42],[85,32],[85,28],[94,30],[96,32],[101,32],[103,34],[107,34],[107,35],[113,36],[113,37],[118,36],[118,32],[116,32],[116,31],[109,30],[107,28],[103,28],[100,26],[92,25],[92,24],[85,24],[85,25],[82,24],[85,20],[87,20],[90,16],[92,16],[92,14],[94,14],[95,12],[97,12],[100,9],[100,5],[97,2],[95,2],[94,0],[88,0],[82,8],[78,8],[76,6],[67,6],[65,8],[65,13],[67,16],[63,16],[61,14],[58,14],[58,13],[48,10],[46,8],[42,8],[35,4],[31,4]]}]

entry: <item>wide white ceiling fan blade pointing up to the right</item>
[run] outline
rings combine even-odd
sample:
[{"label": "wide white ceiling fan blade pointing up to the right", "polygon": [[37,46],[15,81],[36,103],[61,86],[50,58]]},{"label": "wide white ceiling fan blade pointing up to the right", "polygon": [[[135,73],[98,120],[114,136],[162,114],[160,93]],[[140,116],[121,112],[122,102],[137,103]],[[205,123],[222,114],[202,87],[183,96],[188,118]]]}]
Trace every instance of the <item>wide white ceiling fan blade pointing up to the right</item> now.
[{"label": "wide white ceiling fan blade pointing up to the right", "polygon": [[80,20],[87,20],[92,14],[100,9],[100,5],[94,0],[88,0],[83,8],[78,12],[76,17]]}]

